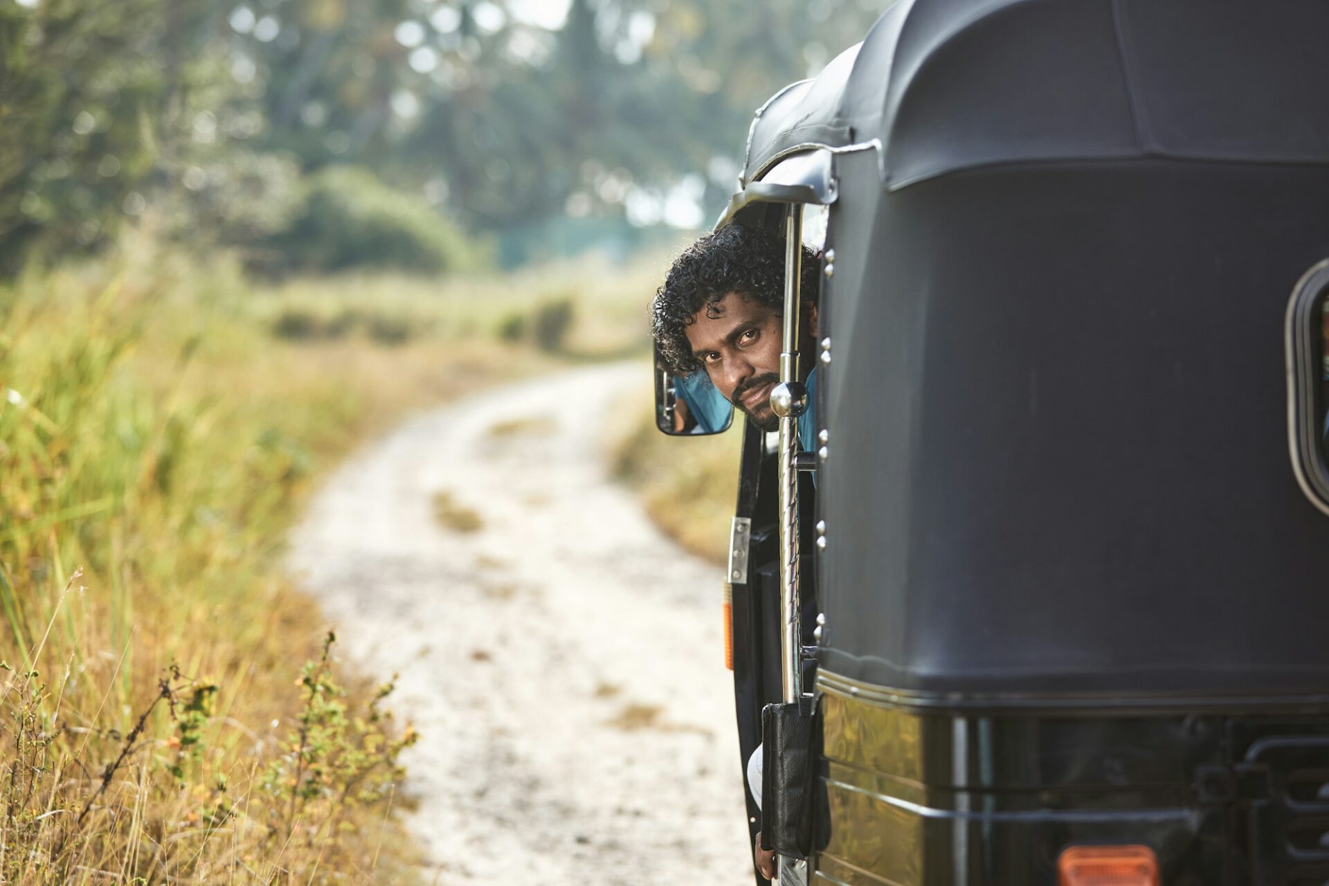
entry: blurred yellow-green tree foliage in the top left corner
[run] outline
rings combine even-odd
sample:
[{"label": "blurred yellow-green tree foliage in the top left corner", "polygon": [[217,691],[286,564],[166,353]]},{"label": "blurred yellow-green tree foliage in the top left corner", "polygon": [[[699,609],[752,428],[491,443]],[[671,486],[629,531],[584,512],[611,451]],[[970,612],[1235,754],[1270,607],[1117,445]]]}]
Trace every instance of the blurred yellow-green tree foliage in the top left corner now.
[{"label": "blurred yellow-green tree foliage in the top left corner", "polygon": [[0,0],[0,271],[94,247],[237,154],[219,21],[195,0]]}]

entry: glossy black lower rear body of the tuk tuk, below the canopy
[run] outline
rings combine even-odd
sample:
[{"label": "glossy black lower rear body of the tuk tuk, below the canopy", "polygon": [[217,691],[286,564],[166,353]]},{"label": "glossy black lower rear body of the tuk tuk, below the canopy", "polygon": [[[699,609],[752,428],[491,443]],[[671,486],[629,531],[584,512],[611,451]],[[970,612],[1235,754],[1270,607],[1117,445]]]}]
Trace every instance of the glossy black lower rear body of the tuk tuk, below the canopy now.
[{"label": "glossy black lower rear body of the tuk tuk, below the canopy", "polygon": [[1095,843],[1150,846],[1167,886],[1329,879],[1329,709],[948,711],[819,688],[815,883],[1053,886],[1061,851]]}]

